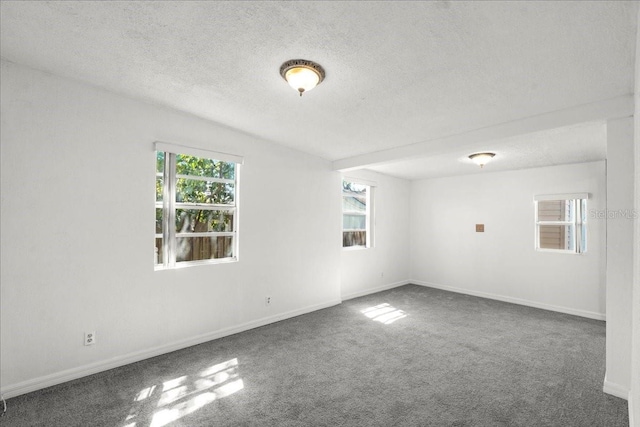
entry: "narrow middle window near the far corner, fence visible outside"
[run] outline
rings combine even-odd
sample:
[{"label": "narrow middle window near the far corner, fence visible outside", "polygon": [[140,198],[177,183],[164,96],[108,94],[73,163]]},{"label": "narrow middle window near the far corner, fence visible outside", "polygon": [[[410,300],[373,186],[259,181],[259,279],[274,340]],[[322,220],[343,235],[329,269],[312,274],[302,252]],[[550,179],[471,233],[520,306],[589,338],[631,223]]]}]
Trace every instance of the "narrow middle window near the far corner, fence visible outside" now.
[{"label": "narrow middle window near the far corner, fence visible outside", "polygon": [[342,181],[342,247],[371,247],[372,187]]}]

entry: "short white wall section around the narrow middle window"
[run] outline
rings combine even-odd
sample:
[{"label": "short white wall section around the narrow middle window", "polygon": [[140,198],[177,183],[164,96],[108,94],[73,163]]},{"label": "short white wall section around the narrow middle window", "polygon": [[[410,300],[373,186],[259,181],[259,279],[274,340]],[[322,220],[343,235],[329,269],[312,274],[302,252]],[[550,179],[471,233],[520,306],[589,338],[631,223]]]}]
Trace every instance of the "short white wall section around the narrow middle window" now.
[{"label": "short white wall section around the narrow middle window", "polygon": [[373,171],[344,173],[345,177],[375,182],[374,240],[368,249],[343,249],[342,298],[390,289],[409,279],[409,181]]}]

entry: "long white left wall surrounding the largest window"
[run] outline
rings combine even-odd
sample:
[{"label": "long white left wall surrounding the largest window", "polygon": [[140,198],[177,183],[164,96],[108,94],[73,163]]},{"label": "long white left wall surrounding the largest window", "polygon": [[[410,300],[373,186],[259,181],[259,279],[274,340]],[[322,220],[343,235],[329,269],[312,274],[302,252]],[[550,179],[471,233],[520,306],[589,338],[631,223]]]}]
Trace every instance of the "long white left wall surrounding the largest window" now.
[{"label": "long white left wall surrounding the largest window", "polygon": [[[1,75],[5,397],[340,302],[329,162],[5,61]],[[240,262],[154,271],[156,140],[245,156]]]}]

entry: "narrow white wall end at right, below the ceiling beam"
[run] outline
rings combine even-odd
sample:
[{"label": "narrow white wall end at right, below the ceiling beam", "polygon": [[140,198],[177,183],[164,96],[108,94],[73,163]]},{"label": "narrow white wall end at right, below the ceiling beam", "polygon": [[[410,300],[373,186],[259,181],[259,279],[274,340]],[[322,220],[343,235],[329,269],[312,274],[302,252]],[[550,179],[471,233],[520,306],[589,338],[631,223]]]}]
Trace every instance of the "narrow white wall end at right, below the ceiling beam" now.
[{"label": "narrow white wall end at right, below the ceiling beam", "polygon": [[604,390],[628,398],[633,288],[633,119],[607,123],[607,375]]}]

